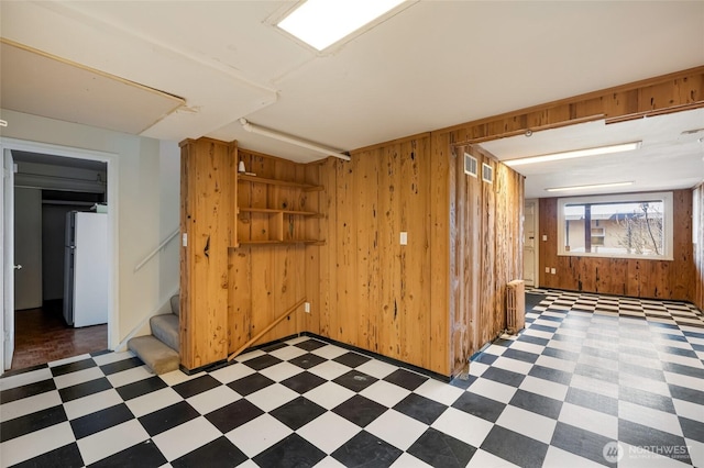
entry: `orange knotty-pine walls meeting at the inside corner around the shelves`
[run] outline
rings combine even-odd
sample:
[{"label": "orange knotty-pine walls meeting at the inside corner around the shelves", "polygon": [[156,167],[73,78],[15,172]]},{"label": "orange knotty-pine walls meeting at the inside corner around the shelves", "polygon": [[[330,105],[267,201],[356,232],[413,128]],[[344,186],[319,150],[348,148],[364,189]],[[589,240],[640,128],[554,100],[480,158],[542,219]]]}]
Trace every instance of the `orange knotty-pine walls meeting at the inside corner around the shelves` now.
[{"label": "orange knotty-pine walls meeting at the inside corner around the shelves", "polygon": [[[326,242],[230,249],[230,352],[305,296],[310,313],[295,312],[258,343],[306,331],[450,375],[449,154],[432,153],[430,134],[306,166],[240,149],[257,177],[324,187],[304,203],[321,213],[308,236]],[[272,197],[238,185],[241,207],[271,207]],[[238,229],[254,227],[240,215]]]}]

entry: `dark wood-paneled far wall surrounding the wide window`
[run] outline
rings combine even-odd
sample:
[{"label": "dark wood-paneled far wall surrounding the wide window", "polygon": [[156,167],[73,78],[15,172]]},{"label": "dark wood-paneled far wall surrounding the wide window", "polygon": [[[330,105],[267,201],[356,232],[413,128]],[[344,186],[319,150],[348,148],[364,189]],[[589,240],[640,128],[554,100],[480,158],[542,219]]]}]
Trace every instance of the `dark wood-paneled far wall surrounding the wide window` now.
[{"label": "dark wood-paneled far wall surrounding the wide window", "polygon": [[[558,255],[558,199],[540,199],[540,286],[572,291],[600,292],[693,301],[695,286],[692,249],[692,191],[673,191],[674,260],[594,258]],[[544,268],[557,274],[546,274]]]}]

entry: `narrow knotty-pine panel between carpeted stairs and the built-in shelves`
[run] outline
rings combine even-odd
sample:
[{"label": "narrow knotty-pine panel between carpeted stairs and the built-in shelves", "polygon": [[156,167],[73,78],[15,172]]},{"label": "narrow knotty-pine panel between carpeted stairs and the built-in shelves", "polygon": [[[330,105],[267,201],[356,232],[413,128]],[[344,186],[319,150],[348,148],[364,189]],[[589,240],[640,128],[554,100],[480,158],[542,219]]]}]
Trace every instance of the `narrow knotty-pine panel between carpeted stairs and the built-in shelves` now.
[{"label": "narrow knotty-pine panel between carpeted stairs and the built-in shelves", "polygon": [[233,242],[237,146],[212,140],[182,143],[182,366],[227,358],[229,255]]}]

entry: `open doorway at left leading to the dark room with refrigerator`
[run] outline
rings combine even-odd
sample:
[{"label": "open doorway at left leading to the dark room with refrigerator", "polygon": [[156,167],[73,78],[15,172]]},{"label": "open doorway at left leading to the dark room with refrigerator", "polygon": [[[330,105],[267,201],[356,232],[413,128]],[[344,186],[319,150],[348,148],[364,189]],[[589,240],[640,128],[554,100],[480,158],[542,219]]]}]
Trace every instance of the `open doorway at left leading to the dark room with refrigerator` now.
[{"label": "open doorway at left leading to the dark room with refrigerator", "polygon": [[[34,363],[23,359],[23,347],[30,342],[37,350],[33,354],[46,356],[44,363],[58,358],[72,357],[88,352],[111,348],[112,323],[114,321],[116,281],[117,278],[117,215],[113,203],[117,197],[117,161],[114,155],[74,149],[55,145],[45,145],[23,141],[0,141],[3,157],[10,159],[12,177],[3,178],[3,193],[12,193],[14,198],[12,207],[13,220],[19,224],[25,224],[29,216],[34,223],[34,229],[22,231],[13,222],[4,222],[2,225],[3,239],[6,241],[3,263],[3,320],[2,337],[2,370],[26,367]],[[3,161],[3,163],[7,163]],[[25,167],[23,167],[25,166]],[[29,169],[28,169],[29,168]],[[88,177],[87,175],[92,176]],[[92,180],[91,180],[92,178]],[[8,182],[11,190],[8,190]],[[19,196],[18,196],[19,194]],[[6,197],[7,198],[7,197]],[[26,205],[18,209],[18,203],[32,204],[29,210],[33,214],[28,215]],[[103,202],[110,202],[105,204]],[[3,201],[3,220],[8,220],[8,203]],[[107,297],[108,307],[106,313],[107,324],[86,326],[81,328],[69,327],[63,316],[63,290],[64,290],[64,220],[68,211],[88,211],[98,207],[107,211]],[[19,212],[22,211],[22,214]],[[94,212],[95,212],[94,211]],[[38,214],[37,214],[38,213]],[[38,220],[38,222],[37,222]],[[59,222],[57,222],[57,220]],[[63,221],[63,222],[62,222]],[[30,224],[31,225],[31,224]],[[29,234],[29,235],[28,235]],[[34,253],[31,258],[33,268],[20,268],[20,258],[14,253],[26,252],[26,246]],[[7,241],[11,242],[8,243]],[[19,245],[15,242],[19,241]],[[18,247],[15,249],[15,247]],[[37,255],[38,253],[38,255]],[[22,254],[20,254],[22,255]],[[36,258],[38,257],[38,258]],[[23,260],[24,261],[24,260]],[[40,280],[37,285],[36,266],[38,265]],[[34,270],[34,271],[30,271]],[[8,271],[12,272],[9,278]],[[30,272],[20,278],[20,272]],[[31,293],[26,293],[25,278],[31,278]],[[13,283],[8,288],[8,283]],[[14,287],[16,286],[16,288]],[[19,297],[15,298],[15,294]],[[29,298],[29,302],[28,302]],[[15,299],[19,299],[15,301]],[[38,307],[37,307],[38,305]],[[28,335],[29,333],[29,335]],[[95,348],[95,349],[94,349]],[[18,354],[15,354],[18,352]],[[13,359],[14,358],[14,359]],[[40,357],[40,359],[43,359]],[[14,360],[14,363],[13,363]],[[40,363],[36,363],[40,364]],[[43,364],[43,363],[41,363]]]}]

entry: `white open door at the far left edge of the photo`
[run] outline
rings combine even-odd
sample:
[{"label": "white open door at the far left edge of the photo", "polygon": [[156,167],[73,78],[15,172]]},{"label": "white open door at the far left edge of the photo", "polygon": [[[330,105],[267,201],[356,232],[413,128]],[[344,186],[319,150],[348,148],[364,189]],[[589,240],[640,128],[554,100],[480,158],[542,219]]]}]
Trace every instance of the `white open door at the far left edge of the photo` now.
[{"label": "white open door at the far left edge of the photo", "polygon": [[[14,160],[2,155],[2,365],[12,367],[14,354]],[[21,268],[20,266],[18,266]]]}]

